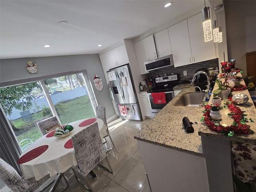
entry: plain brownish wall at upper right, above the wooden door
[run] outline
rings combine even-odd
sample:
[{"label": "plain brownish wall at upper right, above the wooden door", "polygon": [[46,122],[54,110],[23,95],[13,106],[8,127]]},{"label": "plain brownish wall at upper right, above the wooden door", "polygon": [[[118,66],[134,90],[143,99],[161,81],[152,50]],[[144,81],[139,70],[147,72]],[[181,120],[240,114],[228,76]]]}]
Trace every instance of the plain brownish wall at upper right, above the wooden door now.
[{"label": "plain brownish wall at upper right, above the wooden door", "polygon": [[226,18],[228,60],[236,58],[236,67],[246,76],[246,53],[256,51],[256,1],[223,1]]}]

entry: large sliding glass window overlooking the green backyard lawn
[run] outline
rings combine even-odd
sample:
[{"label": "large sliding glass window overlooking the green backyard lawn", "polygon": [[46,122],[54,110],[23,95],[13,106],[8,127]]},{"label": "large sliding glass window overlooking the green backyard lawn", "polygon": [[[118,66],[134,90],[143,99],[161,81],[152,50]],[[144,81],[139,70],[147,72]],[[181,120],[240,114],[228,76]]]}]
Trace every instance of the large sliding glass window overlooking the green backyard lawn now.
[{"label": "large sliding glass window overlooking the green backyard lawn", "polygon": [[86,71],[0,88],[0,102],[23,150],[42,137],[37,122],[53,115],[61,124],[95,117],[97,105]]}]

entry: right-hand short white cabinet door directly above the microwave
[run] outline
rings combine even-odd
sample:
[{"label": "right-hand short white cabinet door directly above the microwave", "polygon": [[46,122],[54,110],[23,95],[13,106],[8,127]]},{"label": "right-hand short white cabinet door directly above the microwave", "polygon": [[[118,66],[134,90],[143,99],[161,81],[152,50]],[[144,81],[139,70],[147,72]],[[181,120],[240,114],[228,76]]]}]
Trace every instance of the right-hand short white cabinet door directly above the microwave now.
[{"label": "right-hand short white cabinet door directly above the microwave", "polygon": [[154,40],[158,58],[172,54],[168,29],[154,34]]}]

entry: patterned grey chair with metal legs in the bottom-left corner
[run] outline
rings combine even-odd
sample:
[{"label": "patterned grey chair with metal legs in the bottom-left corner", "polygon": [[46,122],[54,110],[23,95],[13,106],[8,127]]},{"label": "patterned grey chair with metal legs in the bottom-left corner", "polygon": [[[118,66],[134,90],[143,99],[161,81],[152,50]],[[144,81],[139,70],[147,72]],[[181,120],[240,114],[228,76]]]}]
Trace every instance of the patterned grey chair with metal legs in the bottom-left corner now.
[{"label": "patterned grey chair with metal legs in the bottom-left corner", "polygon": [[[50,175],[47,175],[40,179],[39,181],[36,181],[35,178],[23,179],[18,174],[18,172],[10,164],[2,160],[2,158],[0,158],[0,175],[1,180],[3,180],[6,186],[8,186],[8,188],[10,188],[13,192],[34,192],[50,178]],[[66,186],[61,190],[63,191],[65,188],[69,186],[69,184],[62,173],[58,174],[55,180],[45,185],[40,191],[45,190],[52,183],[53,184],[49,192],[54,191],[62,177],[64,178],[66,184]]]}]

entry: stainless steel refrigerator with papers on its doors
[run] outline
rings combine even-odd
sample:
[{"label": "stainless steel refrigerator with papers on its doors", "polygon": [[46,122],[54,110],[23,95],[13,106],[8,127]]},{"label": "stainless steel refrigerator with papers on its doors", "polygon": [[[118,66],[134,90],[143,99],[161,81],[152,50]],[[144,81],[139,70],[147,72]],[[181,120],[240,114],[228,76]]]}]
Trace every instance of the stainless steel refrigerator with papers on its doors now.
[{"label": "stainless steel refrigerator with papers on its doors", "polygon": [[142,121],[129,64],[113,68],[107,74],[119,117]]}]

